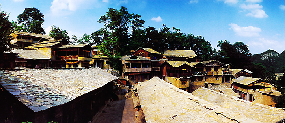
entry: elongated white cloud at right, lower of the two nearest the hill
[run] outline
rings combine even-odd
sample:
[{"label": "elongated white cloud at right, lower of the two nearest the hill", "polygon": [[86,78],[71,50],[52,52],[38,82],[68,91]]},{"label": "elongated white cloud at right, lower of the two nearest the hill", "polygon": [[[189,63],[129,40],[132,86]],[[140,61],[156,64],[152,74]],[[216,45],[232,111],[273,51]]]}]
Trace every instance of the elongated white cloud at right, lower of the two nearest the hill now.
[{"label": "elongated white cloud at right, lower of the two nearest the hill", "polygon": [[248,27],[240,27],[237,24],[229,24],[231,26],[230,29],[233,29],[233,31],[236,33],[238,36],[243,36],[243,37],[258,37],[259,32],[261,32],[261,29],[258,27],[253,27],[253,26],[248,26]]}]

